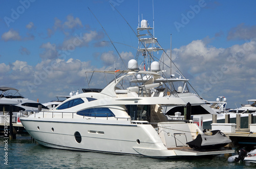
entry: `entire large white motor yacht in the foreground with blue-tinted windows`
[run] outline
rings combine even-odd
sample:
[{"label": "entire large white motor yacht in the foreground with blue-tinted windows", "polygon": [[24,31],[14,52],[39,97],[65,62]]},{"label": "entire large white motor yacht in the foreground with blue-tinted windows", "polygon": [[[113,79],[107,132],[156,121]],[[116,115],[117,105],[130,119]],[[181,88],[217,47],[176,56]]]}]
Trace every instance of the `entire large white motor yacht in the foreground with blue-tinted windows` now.
[{"label": "entire large white motor yacht in the foreground with blue-tinted windows", "polygon": [[[193,123],[168,122],[162,112],[162,106],[186,103],[180,98],[154,96],[158,92],[154,88],[163,85],[154,83],[160,78],[154,71],[133,69],[122,74],[100,92],[74,95],[51,111],[24,112],[20,120],[39,144],[52,148],[160,158],[234,152],[220,148],[231,142],[222,134],[217,140],[207,138],[202,147],[197,146],[199,150],[190,148],[189,142],[205,136],[202,130]],[[153,80],[120,89],[125,79],[138,75],[150,75]]]}]

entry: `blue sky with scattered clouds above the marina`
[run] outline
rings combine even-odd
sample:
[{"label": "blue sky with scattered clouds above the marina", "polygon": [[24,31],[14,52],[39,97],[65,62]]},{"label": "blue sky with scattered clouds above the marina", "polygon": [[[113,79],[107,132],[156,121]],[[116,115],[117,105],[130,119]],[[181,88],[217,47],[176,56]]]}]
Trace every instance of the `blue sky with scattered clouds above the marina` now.
[{"label": "blue sky with scattered clouds above the marina", "polygon": [[[0,2],[0,86],[41,103],[88,87],[85,71],[113,69],[114,42],[137,47],[138,1]],[[256,99],[256,1],[154,1],[155,36],[190,84],[208,101],[227,107]],[[140,19],[153,27],[152,1],[140,0]],[[126,61],[136,55],[116,43]],[[122,69],[123,65],[117,64]],[[117,67],[117,69],[119,69]],[[102,86],[103,87],[103,86]]]}]

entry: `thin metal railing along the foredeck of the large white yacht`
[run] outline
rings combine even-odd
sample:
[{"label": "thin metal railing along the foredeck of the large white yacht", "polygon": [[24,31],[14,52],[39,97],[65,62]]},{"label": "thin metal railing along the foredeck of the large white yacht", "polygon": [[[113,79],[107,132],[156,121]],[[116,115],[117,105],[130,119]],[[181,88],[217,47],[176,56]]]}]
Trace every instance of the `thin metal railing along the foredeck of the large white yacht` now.
[{"label": "thin metal railing along the foredeck of the large white yacht", "polygon": [[[22,117],[28,117],[30,115],[34,115],[34,117],[36,117],[36,114],[38,114],[38,112],[42,112],[42,116],[37,116],[38,118],[45,118],[46,115],[47,115],[47,118],[51,117],[51,118],[54,118],[54,115],[59,115],[61,114],[61,118],[64,118],[64,116],[66,118],[71,118],[70,114],[72,114],[72,118],[74,118],[74,114],[76,115],[79,115],[79,114],[83,114],[83,118],[86,118],[86,119],[91,119],[92,117],[94,118],[97,118],[97,117],[106,117],[106,119],[108,120],[110,117],[114,117],[116,118],[116,120],[120,120],[120,119],[127,119],[127,120],[131,120],[131,117],[115,117],[113,116],[113,114],[110,114],[110,113],[79,113],[77,114],[77,112],[53,112],[53,111],[33,111],[33,110],[30,110],[30,111],[19,111],[20,112],[20,116]],[[49,116],[49,114],[51,114],[51,116]],[[69,116],[67,116],[67,114],[69,114]],[[58,116],[60,117],[60,116]]]}]

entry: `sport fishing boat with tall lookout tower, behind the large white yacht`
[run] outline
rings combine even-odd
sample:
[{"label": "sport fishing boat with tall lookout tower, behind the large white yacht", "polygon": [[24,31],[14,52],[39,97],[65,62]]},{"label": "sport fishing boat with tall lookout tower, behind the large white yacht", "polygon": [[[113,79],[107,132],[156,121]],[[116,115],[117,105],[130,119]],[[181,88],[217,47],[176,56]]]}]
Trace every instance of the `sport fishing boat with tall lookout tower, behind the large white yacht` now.
[{"label": "sport fishing boat with tall lookout tower, behind the large white yacht", "polygon": [[[153,33],[151,33],[152,30]],[[137,28],[137,37],[139,45],[136,60],[140,64],[140,70],[151,71],[155,69],[155,67],[151,66],[153,62],[157,61],[160,64],[161,70],[159,73],[161,78],[157,79],[155,82],[164,83],[164,85],[161,86],[164,92],[163,95],[159,96],[181,98],[186,104],[189,103],[190,115],[217,114],[217,112],[212,110],[199,96],[196,90],[189,84],[189,79],[185,78],[173,62],[172,47],[170,56],[167,55],[165,50],[161,47],[158,39],[155,37],[154,28],[148,25],[147,20],[143,19],[141,21],[140,27]],[[142,79],[143,78],[147,77],[142,77]],[[137,81],[137,79],[135,81]],[[163,106],[163,109],[169,119],[172,119],[176,112],[181,112],[183,116],[186,110],[185,106]]]}]

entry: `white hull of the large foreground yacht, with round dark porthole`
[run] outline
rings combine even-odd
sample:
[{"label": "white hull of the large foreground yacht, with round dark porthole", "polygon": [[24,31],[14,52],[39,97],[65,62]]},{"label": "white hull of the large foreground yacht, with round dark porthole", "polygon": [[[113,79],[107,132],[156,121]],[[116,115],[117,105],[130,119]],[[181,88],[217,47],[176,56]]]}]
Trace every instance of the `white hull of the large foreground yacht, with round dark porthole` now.
[{"label": "white hull of the large foreground yacht, with round dark porthole", "polygon": [[114,120],[113,123],[109,121],[108,124],[102,124],[99,120],[89,123],[84,122],[85,119],[68,122],[46,118],[44,120],[21,118],[21,121],[39,144],[51,148],[156,158],[233,153],[232,150],[199,152],[186,146],[183,146],[184,149],[166,148],[150,124],[129,124],[128,121],[127,124],[118,124]]}]

